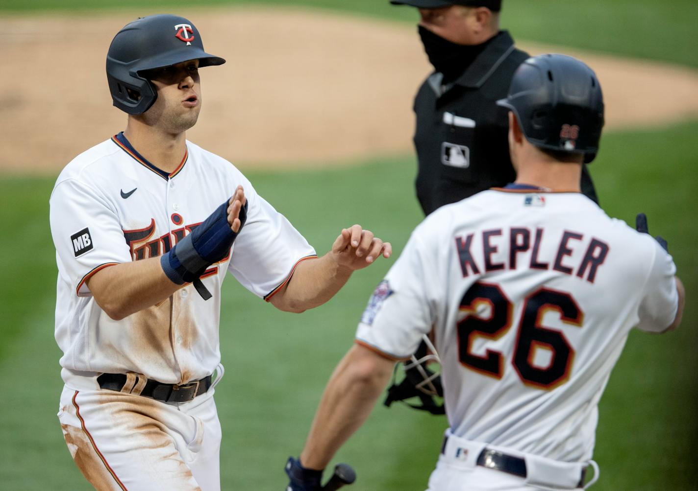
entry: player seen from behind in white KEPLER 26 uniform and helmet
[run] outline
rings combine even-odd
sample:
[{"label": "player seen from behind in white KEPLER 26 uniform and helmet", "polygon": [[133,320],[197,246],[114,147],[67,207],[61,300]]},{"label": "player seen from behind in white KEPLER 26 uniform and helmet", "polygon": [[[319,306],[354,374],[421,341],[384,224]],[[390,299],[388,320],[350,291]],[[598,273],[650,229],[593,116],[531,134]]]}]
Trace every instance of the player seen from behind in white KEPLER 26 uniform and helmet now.
[{"label": "player seen from behind in white KEPLER 26 uniform and helmet", "polygon": [[429,491],[571,490],[599,476],[597,403],[611,369],[631,328],[681,322],[683,286],[666,242],[641,233],[644,215],[636,231],[580,192],[603,124],[590,68],[528,59],[500,104],[517,181],[415,229],[287,463],[288,490],[320,489],[318,472],[369,415],[395,361],[430,333],[450,428]]}]

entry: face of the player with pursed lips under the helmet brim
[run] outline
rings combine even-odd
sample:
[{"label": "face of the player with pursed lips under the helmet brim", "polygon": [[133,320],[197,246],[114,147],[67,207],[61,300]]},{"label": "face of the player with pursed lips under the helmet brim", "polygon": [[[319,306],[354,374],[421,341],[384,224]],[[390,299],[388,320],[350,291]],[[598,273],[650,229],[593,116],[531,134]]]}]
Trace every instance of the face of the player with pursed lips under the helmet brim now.
[{"label": "face of the player with pursed lips under the helmet brim", "polygon": [[144,112],[149,126],[168,133],[182,133],[195,125],[201,110],[199,61],[191,60],[145,73],[156,87],[158,98]]}]

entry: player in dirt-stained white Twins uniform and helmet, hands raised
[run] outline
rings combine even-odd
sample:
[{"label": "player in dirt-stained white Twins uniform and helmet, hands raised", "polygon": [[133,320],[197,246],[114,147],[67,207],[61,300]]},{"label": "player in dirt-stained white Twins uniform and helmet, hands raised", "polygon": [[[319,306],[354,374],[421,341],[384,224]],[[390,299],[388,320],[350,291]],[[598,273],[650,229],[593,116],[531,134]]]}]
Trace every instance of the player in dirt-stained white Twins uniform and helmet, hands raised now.
[{"label": "player in dirt-stained white Twins uniform and helmet, hands raised", "polygon": [[198,68],[224,62],[183,17],[126,25],[107,54],[126,130],[70,162],[50,198],[58,416],[98,490],[220,489],[213,395],[225,273],[302,312],[390,255],[354,225],[318,258],[241,172],[186,140],[202,103]]}]

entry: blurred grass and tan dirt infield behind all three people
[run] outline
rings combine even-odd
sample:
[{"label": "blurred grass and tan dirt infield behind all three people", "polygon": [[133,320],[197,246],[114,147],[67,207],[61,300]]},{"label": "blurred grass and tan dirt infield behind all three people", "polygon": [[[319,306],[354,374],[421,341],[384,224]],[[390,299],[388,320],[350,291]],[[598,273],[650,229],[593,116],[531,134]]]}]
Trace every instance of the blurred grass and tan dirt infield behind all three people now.
[{"label": "blurred grass and tan dirt infield behind all three people", "polygon": [[[695,0],[504,2],[502,27],[532,54],[573,54],[597,73],[608,124],[590,170],[602,207],[669,241],[685,282],[683,326],[632,333],[600,403],[597,491],[698,490],[698,34]],[[241,167],[322,254],[358,222],[395,255],[422,219],[412,98],[430,67],[413,8],[387,0],[1,0],[0,488],[87,490],[55,414],[57,269],[48,198],[60,169],[124,129],[104,59],[135,17],[176,13],[228,59],[202,70],[188,138]],[[281,490],[330,372],[394,259],[355,273],[327,305],[277,312],[223,287],[216,404],[223,490]],[[424,490],[445,418],[377,405],[338,461],[355,491]],[[328,473],[329,474],[329,473]]]}]

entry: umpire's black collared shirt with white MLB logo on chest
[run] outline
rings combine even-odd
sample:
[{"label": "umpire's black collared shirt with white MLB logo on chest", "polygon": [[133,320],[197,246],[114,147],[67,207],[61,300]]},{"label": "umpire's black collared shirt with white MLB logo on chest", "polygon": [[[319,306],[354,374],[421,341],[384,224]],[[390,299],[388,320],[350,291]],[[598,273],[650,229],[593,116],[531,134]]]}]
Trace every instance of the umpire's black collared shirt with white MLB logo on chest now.
[{"label": "umpire's black collared shirt with white MLB logo on chest", "polygon": [[[528,54],[500,31],[455,82],[442,85],[432,73],[415,97],[415,149],[419,169],[417,199],[425,215],[493,186],[513,182],[509,156],[507,97],[514,71]],[[582,191],[596,201],[584,165]]]}]

